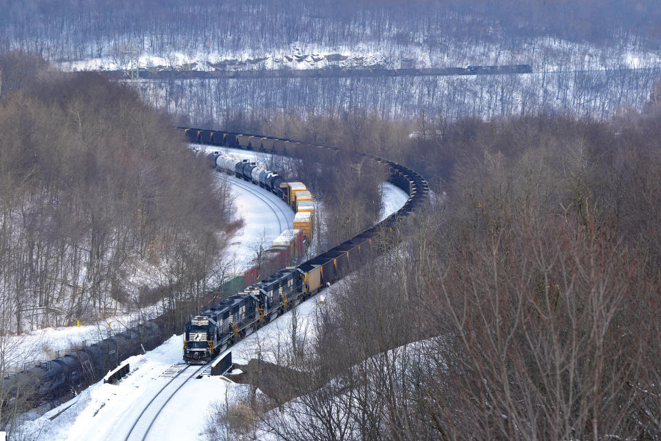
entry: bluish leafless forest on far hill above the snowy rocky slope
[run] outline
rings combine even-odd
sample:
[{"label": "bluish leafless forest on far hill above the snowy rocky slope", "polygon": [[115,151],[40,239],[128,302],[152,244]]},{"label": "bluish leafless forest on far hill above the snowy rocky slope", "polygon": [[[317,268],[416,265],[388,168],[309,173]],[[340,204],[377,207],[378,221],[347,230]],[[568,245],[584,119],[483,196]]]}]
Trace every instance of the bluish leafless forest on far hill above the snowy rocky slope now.
[{"label": "bluish leafless forest on far hill above the snowy rocky slope", "polygon": [[[654,0],[3,0],[0,8],[0,49],[28,50],[50,61],[109,57],[139,39],[144,50],[161,57],[181,51],[230,58],[299,43],[363,45],[386,52],[395,67],[417,61],[412,54],[418,51],[428,54],[430,65],[503,64],[539,50],[543,44],[536,42],[547,38],[621,55],[658,50],[661,33]],[[586,61],[580,53],[575,57]],[[547,58],[560,63],[553,52]]]}]

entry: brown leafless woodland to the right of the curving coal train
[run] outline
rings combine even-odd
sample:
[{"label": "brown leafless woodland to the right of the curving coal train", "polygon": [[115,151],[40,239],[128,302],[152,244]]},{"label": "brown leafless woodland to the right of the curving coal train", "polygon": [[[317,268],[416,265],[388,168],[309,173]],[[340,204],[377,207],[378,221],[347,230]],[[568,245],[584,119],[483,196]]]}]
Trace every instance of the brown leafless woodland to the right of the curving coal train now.
[{"label": "brown leafless woodland to the right of the curving coal train", "polygon": [[660,122],[658,101],[415,140],[362,121],[361,147],[442,178],[443,203],[384,238],[313,338],[293,318],[261,348],[209,438],[658,439]]}]

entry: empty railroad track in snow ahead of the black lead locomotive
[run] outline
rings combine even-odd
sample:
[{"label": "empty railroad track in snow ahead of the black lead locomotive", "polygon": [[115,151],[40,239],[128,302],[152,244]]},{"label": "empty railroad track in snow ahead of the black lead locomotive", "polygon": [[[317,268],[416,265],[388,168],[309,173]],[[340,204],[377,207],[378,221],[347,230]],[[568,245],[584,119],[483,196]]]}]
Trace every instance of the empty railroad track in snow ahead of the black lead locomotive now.
[{"label": "empty railroad track in snow ahead of the black lead locomotive", "polygon": [[[132,424],[124,441],[144,441],[147,439],[151,427],[154,426],[156,419],[167,403],[176,395],[184,384],[192,378],[196,378],[207,366],[202,365],[201,367],[198,367],[198,369],[191,369],[193,367],[196,366],[186,365],[178,372],[174,373],[173,376],[169,377],[170,380],[159,389],[154,398],[151,398],[149,403],[147,403],[145,409],[140,412],[140,415],[138,415],[138,418],[136,418],[135,422]],[[171,371],[171,369],[169,370]],[[193,373],[191,373],[191,371]]]}]

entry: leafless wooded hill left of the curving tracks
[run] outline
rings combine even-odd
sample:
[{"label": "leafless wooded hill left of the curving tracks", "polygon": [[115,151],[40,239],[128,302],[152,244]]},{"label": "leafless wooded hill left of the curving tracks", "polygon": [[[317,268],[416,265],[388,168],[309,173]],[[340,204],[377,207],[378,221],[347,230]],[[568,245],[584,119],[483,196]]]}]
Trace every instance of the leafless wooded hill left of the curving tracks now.
[{"label": "leafless wooded hill left of the curving tracks", "polygon": [[231,203],[167,118],[122,85],[0,63],[3,332],[199,294]]}]

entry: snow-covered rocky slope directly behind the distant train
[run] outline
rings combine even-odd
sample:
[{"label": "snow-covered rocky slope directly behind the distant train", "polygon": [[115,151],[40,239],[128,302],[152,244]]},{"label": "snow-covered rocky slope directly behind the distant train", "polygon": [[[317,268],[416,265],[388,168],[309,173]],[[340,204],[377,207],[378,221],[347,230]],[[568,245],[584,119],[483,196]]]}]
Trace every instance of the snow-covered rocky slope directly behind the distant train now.
[{"label": "snow-covered rocky slope directly behind the distant train", "polygon": [[[144,43],[143,43],[144,45]],[[539,38],[522,42],[516,48],[502,48],[485,43],[479,48],[450,47],[443,52],[430,51],[424,45],[411,44],[406,52],[399,48],[358,43],[328,47],[297,42],[278,50],[240,50],[182,52],[173,50],[156,54],[140,50],[140,68],[147,70],[304,70],[324,68],[448,68],[466,65],[529,64],[535,71],[600,69],[640,69],[661,66],[661,52],[641,48],[602,47],[560,39]],[[63,70],[129,70],[133,59],[105,57],[60,61]]]}]

